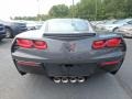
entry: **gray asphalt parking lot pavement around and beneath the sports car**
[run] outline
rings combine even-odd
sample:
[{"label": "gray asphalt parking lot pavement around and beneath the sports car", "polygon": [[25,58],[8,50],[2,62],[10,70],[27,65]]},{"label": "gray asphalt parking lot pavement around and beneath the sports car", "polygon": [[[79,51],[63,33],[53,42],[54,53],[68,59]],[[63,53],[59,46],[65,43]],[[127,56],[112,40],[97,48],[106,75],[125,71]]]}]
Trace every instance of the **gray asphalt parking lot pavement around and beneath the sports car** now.
[{"label": "gray asphalt parking lot pavement around and beneath the sports car", "polygon": [[54,84],[42,75],[21,76],[11,59],[12,40],[0,42],[0,99],[132,99],[132,40],[120,72],[94,75],[84,84]]}]

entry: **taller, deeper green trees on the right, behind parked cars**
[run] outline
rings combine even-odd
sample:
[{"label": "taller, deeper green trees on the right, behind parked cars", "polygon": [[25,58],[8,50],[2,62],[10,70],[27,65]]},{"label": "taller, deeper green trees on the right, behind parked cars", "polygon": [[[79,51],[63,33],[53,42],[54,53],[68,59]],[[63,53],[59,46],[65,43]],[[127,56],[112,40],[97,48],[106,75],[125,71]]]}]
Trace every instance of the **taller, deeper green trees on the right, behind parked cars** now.
[{"label": "taller, deeper green trees on the right, behind parked cars", "polygon": [[132,0],[80,0],[70,7],[69,14],[75,13],[75,16],[88,20],[128,18],[132,16],[131,3]]}]

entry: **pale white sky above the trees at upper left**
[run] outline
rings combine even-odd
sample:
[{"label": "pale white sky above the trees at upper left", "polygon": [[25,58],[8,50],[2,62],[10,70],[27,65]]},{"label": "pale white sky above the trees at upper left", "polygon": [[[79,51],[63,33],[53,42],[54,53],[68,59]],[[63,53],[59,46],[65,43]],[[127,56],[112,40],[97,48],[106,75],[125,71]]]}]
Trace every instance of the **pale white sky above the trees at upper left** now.
[{"label": "pale white sky above the trees at upper left", "polygon": [[[77,3],[80,0],[74,1]],[[53,6],[62,3],[70,6],[73,0],[0,0],[0,19],[34,16],[38,12],[46,14]]]}]

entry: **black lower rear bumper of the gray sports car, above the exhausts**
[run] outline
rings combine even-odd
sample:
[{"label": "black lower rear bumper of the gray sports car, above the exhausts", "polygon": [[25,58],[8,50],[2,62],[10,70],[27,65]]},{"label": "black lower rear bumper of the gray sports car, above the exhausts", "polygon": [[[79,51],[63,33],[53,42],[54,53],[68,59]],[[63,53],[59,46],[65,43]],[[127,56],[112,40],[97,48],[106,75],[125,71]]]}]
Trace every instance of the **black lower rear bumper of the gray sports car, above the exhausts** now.
[{"label": "black lower rear bumper of the gray sports car, above the exhausts", "polygon": [[[20,59],[20,58],[13,58],[14,64],[18,68],[19,72],[23,73],[31,73],[31,74],[42,74],[42,75],[47,75],[47,76],[89,76],[94,73],[102,72],[102,69],[112,72],[117,70],[120,68],[121,63],[123,61],[122,57],[114,57],[114,58],[107,58],[107,59],[100,59],[97,62],[91,62],[91,63],[52,63],[52,62],[46,62],[45,61],[40,61],[37,64],[34,65],[26,65],[26,64],[18,64],[18,62],[34,62],[32,59]],[[107,66],[101,66],[103,62],[113,62],[113,61],[119,61],[118,64],[114,65],[107,65]]]}]

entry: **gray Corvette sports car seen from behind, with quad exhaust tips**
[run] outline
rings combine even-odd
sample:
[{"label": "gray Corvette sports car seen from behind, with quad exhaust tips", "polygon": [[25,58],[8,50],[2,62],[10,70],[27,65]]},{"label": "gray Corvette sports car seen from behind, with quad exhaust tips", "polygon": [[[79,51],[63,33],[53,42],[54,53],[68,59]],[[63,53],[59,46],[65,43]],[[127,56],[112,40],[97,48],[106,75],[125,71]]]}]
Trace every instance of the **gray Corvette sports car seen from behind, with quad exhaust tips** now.
[{"label": "gray Corvette sports car seen from behind, with quad exhaust tips", "polygon": [[82,82],[100,70],[116,74],[125,51],[121,35],[96,33],[81,19],[47,20],[41,30],[16,35],[11,46],[21,75],[44,74],[55,82]]}]

